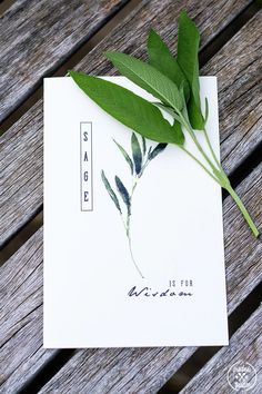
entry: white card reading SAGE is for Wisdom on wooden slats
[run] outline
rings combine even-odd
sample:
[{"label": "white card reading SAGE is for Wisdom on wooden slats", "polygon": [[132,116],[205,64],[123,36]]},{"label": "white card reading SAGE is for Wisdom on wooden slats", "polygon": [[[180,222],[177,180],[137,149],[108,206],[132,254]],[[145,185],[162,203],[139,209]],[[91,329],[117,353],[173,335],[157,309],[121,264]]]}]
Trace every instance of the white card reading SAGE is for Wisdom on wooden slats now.
[{"label": "white card reading SAGE is for Wisdom on wooden slats", "polygon": [[[123,77],[107,79],[153,100]],[[215,77],[201,78],[204,97],[219,156]],[[44,79],[43,345],[226,345],[221,189],[171,145],[135,178],[114,142],[132,159],[131,136],[71,78]],[[157,146],[147,140],[143,154],[137,138],[134,173]],[[187,148],[198,156],[188,138]]]}]

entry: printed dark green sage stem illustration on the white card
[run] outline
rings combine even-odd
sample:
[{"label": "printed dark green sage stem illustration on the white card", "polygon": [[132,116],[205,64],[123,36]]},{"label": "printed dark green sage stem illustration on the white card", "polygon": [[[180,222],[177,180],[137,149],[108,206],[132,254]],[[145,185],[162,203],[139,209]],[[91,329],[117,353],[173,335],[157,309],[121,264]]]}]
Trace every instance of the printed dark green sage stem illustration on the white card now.
[{"label": "printed dark green sage stem illustration on the white card", "polygon": [[[153,160],[161,151],[163,151],[167,147],[167,144],[158,144],[154,148],[150,146],[147,147],[145,138],[142,137],[141,141],[139,142],[138,137],[134,132],[131,136],[131,155],[115,140],[113,140],[117,147],[119,148],[120,152],[122,154],[124,160],[129,165],[130,174],[132,177],[132,186],[131,190],[128,190],[124,186],[124,183],[115,175],[114,184],[115,184],[115,191],[113,187],[110,185],[104,171],[101,171],[101,178],[103,185],[111,197],[112,201],[114,203],[121,220],[124,226],[124,232],[128,238],[128,245],[130,249],[130,256],[137,268],[140,276],[143,278],[143,274],[139,268],[138,263],[135,262],[133,252],[132,252],[132,238],[131,238],[131,214],[132,214],[132,198],[138,186],[140,178],[142,177],[145,168],[148,167],[149,162]],[[120,198],[119,198],[120,197]],[[120,204],[122,201],[123,208]]]}]

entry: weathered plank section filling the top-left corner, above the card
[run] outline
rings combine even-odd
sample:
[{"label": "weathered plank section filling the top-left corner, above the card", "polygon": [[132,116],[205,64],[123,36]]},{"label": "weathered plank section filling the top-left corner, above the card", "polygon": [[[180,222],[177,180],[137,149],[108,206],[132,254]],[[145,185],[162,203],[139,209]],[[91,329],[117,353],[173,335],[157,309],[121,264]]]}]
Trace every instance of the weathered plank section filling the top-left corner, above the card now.
[{"label": "weathered plank section filling the top-left corner, above the card", "polygon": [[19,0],[0,18],[0,121],[128,0]]}]

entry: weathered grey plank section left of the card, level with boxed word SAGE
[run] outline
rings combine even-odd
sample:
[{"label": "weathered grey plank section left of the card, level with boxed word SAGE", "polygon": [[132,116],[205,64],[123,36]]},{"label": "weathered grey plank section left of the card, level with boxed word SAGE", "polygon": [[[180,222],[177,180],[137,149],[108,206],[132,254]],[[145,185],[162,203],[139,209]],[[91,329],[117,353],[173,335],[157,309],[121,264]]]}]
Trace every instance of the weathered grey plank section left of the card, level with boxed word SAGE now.
[{"label": "weathered grey plank section left of the card, level with boxed word SAGE", "polygon": [[0,246],[30,220],[42,205],[42,139],[41,105],[32,107],[0,138]]}]

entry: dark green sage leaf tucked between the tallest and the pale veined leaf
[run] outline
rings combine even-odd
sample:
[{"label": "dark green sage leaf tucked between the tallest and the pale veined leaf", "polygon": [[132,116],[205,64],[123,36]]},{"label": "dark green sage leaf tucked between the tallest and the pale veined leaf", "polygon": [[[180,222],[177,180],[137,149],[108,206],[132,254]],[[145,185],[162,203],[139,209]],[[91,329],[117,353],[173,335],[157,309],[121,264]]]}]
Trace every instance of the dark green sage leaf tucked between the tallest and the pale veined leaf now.
[{"label": "dark green sage leaf tucked between the tallest and the pale veined leaf", "polygon": [[171,79],[178,87],[182,81],[185,81],[185,98],[188,100],[190,89],[185,76],[168,46],[153,29],[150,29],[148,37],[148,55],[149,63]]}]

